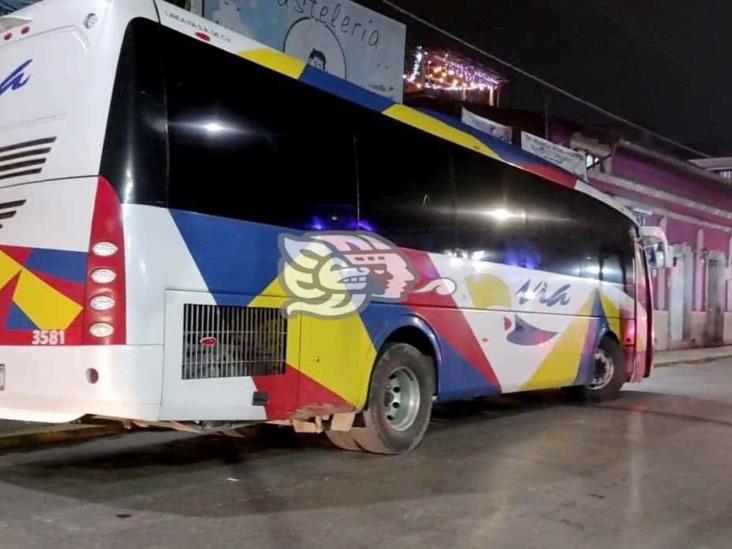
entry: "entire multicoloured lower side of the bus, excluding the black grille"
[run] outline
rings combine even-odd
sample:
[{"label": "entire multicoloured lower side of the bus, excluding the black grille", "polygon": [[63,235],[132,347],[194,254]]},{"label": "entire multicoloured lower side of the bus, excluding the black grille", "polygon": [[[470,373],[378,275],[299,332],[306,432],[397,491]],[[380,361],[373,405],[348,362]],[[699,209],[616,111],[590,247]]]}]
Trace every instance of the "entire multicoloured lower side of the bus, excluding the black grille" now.
[{"label": "entire multicoloured lower side of the bus, excluding the black grille", "polygon": [[[126,211],[133,210],[138,213],[130,213],[125,221],[126,226],[139,223],[130,231],[138,235],[138,241],[128,246],[129,268],[147,258],[130,277],[143,281],[147,277],[136,297],[132,296],[135,290],[130,290],[130,314],[135,315],[130,325],[140,323],[135,338],[157,334],[154,340],[145,341],[159,342],[165,329],[175,325],[171,315],[180,319],[181,313],[171,312],[171,301],[165,301],[170,290],[197,293],[202,301],[194,300],[196,303],[269,307],[278,313],[286,303],[288,294],[279,276],[283,258],[277,242],[282,234],[301,233],[182,211],[126,206]],[[145,225],[134,221],[136,216],[158,221]],[[147,234],[162,235],[166,249],[146,238]],[[138,251],[134,251],[136,246]],[[377,352],[391,335],[389,327],[406,325],[409,319],[418,320],[435,335],[440,357],[438,398],[454,400],[584,383],[600,338],[607,332],[619,336],[621,323],[633,316],[633,299],[619,285],[441,254],[400,253],[409,258],[419,287],[449,279],[454,292],[412,293],[402,303],[374,301],[359,314],[343,318],[300,315],[290,319],[288,331],[298,346],[288,347],[286,372],[254,376],[247,388],[232,392],[232,403],[240,399],[240,418],[283,419],[361,408]],[[322,268],[324,263],[316,267]],[[155,279],[146,273],[155,273]],[[316,279],[318,274],[312,273]],[[191,295],[186,299],[194,302]],[[163,310],[167,318],[156,316],[155,311]],[[169,352],[178,355],[168,364],[175,371],[166,379],[179,383],[182,330],[173,331],[175,337],[164,339]],[[211,383],[185,381],[186,394],[195,394],[195,387]],[[233,387],[240,383],[241,379],[222,379],[214,384]],[[197,406],[186,409],[184,404],[192,401],[172,387],[166,383],[163,401],[177,400],[179,406],[170,408],[168,419],[227,419],[226,414],[231,414],[231,408],[216,412],[226,409],[216,399],[197,399]],[[266,393],[261,416],[249,409],[257,392]],[[190,417],[180,417],[183,412]]]}]

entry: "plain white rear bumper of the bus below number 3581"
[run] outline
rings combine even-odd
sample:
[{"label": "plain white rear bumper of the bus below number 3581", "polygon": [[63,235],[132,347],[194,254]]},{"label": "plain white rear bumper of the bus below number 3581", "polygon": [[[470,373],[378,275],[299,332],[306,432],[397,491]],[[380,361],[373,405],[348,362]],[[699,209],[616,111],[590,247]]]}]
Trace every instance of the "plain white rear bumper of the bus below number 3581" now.
[{"label": "plain white rear bumper of the bus below number 3581", "polygon": [[85,415],[155,421],[162,345],[0,347],[0,419],[62,423]]}]

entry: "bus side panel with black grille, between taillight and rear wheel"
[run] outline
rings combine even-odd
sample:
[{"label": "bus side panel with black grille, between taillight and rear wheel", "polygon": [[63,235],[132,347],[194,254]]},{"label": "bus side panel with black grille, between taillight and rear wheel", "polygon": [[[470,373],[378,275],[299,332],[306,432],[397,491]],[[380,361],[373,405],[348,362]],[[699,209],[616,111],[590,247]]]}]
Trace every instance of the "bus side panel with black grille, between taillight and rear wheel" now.
[{"label": "bus side panel with black grille, between taillight and rear wheel", "polygon": [[225,347],[226,330],[213,317],[191,320],[206,333],[184,343],[186,305],[207,305],[216,311],[231,306],[265,309],[271,311],[272,322],[280,317],[287,297],[278,271],[282,230],[148,206],[128,205],[124,211],[132,235],[127,246],[129,279],[137,281],[128,287],[128,337],[135,343],[165,342],[164,419],[275,420],[363,405],[375,351],[358,315],[288,320],[282,374],[236,377],[209,361],[204,366],[208,372],[185,379],[182,352],[189,357],[206,353],[204,340],[216,337],[216,344],[224,345],[221,352],[237,352]]}]

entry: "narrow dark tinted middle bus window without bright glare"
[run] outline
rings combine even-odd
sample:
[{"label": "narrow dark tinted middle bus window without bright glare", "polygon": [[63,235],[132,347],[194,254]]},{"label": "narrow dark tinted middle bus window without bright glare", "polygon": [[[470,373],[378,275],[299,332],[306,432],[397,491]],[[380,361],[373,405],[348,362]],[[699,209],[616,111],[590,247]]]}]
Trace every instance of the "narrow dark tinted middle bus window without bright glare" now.
[{"label": "narrow dark tinted middle bus window without bright glare", "polygon": [[365,119],[357,141],[362,227],[406,248],[452,250],[449,145],[380,116]]}]

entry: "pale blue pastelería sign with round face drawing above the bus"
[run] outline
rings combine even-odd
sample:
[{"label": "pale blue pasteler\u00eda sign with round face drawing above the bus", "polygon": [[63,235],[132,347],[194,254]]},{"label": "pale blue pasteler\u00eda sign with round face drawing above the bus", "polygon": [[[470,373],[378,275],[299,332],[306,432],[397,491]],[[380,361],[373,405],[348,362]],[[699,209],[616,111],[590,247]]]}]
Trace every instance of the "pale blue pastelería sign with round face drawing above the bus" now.
[{"label": "pale blue pasteler\u00eda sign with round face drawing above the bus", "polygon": [[395,101],[406,27],[349,0],[206,0],[224,27]]}]

